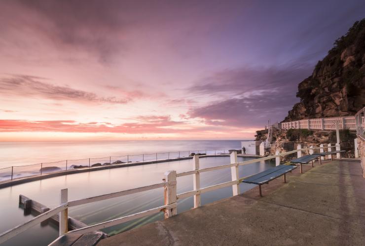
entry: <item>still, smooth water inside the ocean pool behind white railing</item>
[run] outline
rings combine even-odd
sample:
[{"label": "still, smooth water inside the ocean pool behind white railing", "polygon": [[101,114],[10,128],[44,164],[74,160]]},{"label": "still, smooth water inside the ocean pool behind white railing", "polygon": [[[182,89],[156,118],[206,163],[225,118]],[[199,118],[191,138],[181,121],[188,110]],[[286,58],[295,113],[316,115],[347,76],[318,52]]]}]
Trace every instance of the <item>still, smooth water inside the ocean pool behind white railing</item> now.
[{"label": "still, smooth water inside the ocean pool behind white railing", "polygon": [[[252,158],[239,157],[239,161]],[[229,157],[200,158],[200,167],[212,167],[228,164]],[[271,166],[272,162],[257,162],[239,167],[240,177],[255,174]],[[161,183],[163,174],[168,170],[178,173],[192,170],[192,160],[171,161],[165,163],[147,164],[133,167],[114,168],[88,173],[60,176],[27,184],[14,185],[0,189],[0,200],[3,204],[0,210],[0,232],[6,231],[22,222],[27,221],[32,215],[23,215],[18,208],[19,194],[26,195],[46,206],[55,207],[59,204],[60,189],[69,189],[69,200],[86,198],[149,184]],[[210,186],[230,181],[230,169],[221,169],[200,174],[201,187]],[[192,175],[180,177],[177,181],[178,193],[192,190]],[[241,192],[255,185],[240,184]],[[225,187],[201,195],[202,205],[232,196],[232,188]],[[69,216],[86,224],[95,224],[124,215],[130,215],[146,209],[163,205],[163,188],[140,192],[123,197],[113,198],[96,203],[80,205],[69,209]],[[193,198],[188,197],[178,201],[178,213],[193,207]],[[162,213],[136,219],[121,225],[112,226],[103,230],[109,235],[120,233],[143,224],[162,219]],[[51,224],[41,227],[34,226],[30,230],[9,240],[4,245],[47,245],[58,236],[57,228]]]}]

